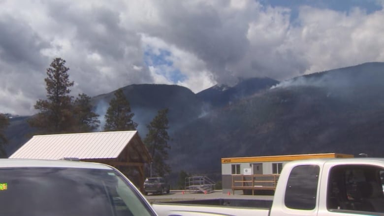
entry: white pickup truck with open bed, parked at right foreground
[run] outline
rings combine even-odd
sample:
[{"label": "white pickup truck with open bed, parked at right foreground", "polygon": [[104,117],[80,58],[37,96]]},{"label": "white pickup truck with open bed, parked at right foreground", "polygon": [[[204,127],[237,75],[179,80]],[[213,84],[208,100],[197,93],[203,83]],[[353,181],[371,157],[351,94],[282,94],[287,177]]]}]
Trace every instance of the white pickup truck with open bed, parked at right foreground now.
[{"label": "white pickup truck with open bed, parked at right foreground", "polygon": [[160,216],[384,216],[383,174],[384,158],[298,160],[284,166],[269,206],[152,206]]}]

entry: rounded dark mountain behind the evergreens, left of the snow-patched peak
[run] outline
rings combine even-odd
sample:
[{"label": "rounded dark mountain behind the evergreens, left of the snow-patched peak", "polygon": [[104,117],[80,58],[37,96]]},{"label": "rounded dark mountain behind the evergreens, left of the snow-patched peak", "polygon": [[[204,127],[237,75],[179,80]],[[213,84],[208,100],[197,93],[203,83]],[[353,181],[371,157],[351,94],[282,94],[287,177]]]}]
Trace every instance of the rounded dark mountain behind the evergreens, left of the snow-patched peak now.
[{"label": "rounded dark mountain behind the evergreens, left of the snow-patched peak", "polygon": [[[146,135],[146,125],[160,109],[169,109],[168,120],[172,131],[196,119],[202,112],[203,104],[200,99],[185,87],[141,84],[129,85],[122,89],[135,114],[133,120],[138,123],[137,129],[142,137]],[[93,97],[91,103],[96,107],[96,113],[103,116],[113,97],[114,92]]]}]

